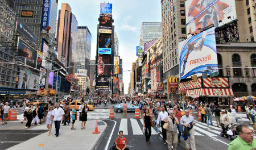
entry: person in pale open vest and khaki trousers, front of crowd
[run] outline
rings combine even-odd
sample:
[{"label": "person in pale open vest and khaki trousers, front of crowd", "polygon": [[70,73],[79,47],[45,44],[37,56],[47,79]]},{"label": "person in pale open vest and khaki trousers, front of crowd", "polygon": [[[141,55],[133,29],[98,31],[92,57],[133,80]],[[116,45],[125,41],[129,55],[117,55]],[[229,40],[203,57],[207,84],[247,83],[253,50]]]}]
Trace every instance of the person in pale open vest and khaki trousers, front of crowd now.
[{"label": "person in pale open vest and khaki trousers, front of crowd", "polygon": [[[163,119],[163,122],[168,122],[168,130],[167,130],[167,141],[168,141],[168,149],[171,150],[173,146],[173,150],[177,148],[177,124],[179,124],[179,120],[176,118],[173,110],[170,111],[170,116],[168,119]],[[173,144],[172,144],[173,143]]]}]

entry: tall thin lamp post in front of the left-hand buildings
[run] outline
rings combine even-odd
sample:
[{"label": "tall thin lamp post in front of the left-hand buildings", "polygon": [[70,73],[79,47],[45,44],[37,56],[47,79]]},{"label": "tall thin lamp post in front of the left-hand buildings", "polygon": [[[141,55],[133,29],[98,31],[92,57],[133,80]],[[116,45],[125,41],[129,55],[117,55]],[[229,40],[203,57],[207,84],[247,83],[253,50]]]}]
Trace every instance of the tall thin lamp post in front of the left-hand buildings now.
[{"label": "tall thin lamp post in front of the left-hand buildings", "polygon": [[[43,36],[43,38],[47,38],[48,39],[48,44],[47,44],[48,45],[48,51],[47,51],[47,53],[48,53],[48,57],[49,57],[49,55],[51,55],[51,48],[52,47],[57,47],[58,43],[57,43],[55,38],[52,38],[51,39],[51,43],[49,43],[49,34],[48,34],[48,32],[46,30],[43,29],[40,34]],[[49,61],[49,58],[46,59],[46,62],[48,62],[48,61]],[[46,64],[48,64],[48,63],[46,63]],[[52,65],[50,65],[50,66],[52,66]],[[48,86],[49,86],[49,84],[48,84],[48,81],[49,81],[49,71],[51,69],[49,69],[49,68],[46,69],[46,90],[48,90]],[[49,92],[47,91],[46,98],[44,99],[45,103],[47,103],[48,95],[49,95]]]}]

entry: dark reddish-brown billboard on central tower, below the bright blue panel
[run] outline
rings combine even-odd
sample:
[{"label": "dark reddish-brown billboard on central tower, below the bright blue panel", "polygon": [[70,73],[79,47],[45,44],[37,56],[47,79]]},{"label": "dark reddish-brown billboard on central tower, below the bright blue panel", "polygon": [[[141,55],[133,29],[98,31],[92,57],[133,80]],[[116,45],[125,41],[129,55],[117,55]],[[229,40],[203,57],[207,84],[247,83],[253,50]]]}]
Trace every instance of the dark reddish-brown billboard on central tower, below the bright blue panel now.
[{"label": "dark reddish-brown billboard on central tower, below the bright blue panel", "polygon": [[[98,55],[98,64],[111,64],[110,55]],[[98,65],[97,76],[110,76],[111,66],[110,65]]]}]

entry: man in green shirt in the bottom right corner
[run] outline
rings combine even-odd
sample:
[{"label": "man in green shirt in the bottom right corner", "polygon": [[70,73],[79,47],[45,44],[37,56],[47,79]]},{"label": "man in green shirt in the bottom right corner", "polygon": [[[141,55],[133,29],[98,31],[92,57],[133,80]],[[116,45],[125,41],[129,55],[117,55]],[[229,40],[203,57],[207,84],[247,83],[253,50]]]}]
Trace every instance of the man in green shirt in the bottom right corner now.
[{"label": "man in green shirt in the bottom right corner", "polygon": [[239,125],[236,128],[239,136],[229,143],[228,150],[245,150],[256,148],[256,140],[253,137],[253,131],[245,126]]}]

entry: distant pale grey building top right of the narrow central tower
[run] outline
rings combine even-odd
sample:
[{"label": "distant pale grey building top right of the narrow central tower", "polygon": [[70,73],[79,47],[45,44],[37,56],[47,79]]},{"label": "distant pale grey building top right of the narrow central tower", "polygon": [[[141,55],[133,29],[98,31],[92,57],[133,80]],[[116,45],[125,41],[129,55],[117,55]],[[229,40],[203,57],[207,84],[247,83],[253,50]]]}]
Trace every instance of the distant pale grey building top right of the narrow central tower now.
[{"label": "distant pale grey building top right of the narrow central tower", "polygon": [[141,38],[139,45],[148,41],[159,39],[162,36],[162,24],[160,22],[143,22],[141,26]]}]

